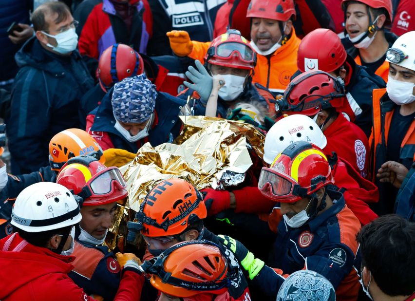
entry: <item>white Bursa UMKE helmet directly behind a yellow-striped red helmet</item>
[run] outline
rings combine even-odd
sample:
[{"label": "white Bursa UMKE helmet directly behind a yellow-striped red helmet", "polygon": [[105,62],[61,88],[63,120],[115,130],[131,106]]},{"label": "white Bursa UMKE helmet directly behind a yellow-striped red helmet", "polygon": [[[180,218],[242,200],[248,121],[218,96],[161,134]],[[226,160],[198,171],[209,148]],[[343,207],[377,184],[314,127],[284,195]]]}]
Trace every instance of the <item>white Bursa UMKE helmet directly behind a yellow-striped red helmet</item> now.
[{"label": "white Bursa UMKE helmet directly behind a yellow-striped red helmet", "polygon": [[287,146],[301,140],[321,149],[327,145],[326,136],[310,117],[295,114],[280,119],[265,136],[264,161],[271,164]]}]

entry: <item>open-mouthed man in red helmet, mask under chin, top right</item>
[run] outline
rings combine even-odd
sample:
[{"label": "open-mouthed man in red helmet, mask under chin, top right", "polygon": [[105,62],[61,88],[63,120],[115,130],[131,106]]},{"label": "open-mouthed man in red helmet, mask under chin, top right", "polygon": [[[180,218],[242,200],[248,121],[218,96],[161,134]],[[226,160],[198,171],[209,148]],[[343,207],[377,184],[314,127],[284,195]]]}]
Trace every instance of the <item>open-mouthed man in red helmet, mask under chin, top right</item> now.
[{"label": "open-mouthed man in red helmet, mask under chin, top right", "polygon": [[342,0],[341,5],[347,53],[358,65],[366,67],[370,75],[379,75],[387,82],[386,51],[397,38],[385,31],[385,25],[392,21],[392,0]]}]

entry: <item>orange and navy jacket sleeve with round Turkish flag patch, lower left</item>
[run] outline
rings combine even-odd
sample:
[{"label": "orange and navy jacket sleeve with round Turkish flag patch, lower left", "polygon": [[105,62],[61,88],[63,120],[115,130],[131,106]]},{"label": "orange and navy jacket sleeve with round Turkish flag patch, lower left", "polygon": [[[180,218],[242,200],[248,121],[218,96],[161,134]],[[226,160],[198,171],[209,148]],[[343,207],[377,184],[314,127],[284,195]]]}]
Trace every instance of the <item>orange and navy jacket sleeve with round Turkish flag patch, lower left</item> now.
[{"label": "orange and navy jacket sleeve with round Turkish flag patch, lower left", "polygon": [[114,253],[105,245],[89,245],[76,239],[72,255],[76,257],[72,263],[75,268],[68,276],[76,285],[88,295],[101,296],[104,301],[114,300],[121,280],[121,268]]}]

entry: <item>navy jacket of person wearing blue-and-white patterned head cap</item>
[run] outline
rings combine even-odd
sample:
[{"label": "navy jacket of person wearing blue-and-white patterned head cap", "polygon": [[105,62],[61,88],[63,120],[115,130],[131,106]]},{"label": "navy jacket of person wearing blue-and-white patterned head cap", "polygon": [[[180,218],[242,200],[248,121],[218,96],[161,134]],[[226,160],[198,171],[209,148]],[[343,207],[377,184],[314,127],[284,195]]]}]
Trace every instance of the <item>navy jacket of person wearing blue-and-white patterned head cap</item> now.
[{"label": "navy jacket of person wearing blue-and-white patterned head cap", "polygon": [[165,142],[172,142],[179,134],[181,122],[179,119],[180,109],[186,104],[186,101],[170,94],[158,92],[155,104],[155,113],[157,114],[157,124],[149,131],[149,136],[137,142],[129,142],[124,136],[114,128],[115,118],[111,97],[113,88],[102,99],[99,107],[90,113],[88,118],[94,118],[93,125],[88,128],[88,132],[100,143],[103,132],[108,133],[111,142],[116,149],[137,152],[145,143],[150,142],[151,146],[156,147]]}]

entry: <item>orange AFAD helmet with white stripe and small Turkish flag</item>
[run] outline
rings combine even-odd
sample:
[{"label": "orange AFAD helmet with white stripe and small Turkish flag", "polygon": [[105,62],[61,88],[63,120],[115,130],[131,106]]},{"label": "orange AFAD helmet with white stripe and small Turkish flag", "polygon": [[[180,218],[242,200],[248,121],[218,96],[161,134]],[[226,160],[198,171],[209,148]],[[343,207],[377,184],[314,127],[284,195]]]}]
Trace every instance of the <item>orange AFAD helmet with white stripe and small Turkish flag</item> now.
[{"label": "orange AFAD helmet with white stripe and small Turkish flag", "polygon": [[49,142],[49,163],[52,170],[59,171],[70,158],[89,155],[105,163],[102,149],[96,140],[80,129],[58,132]]}]

